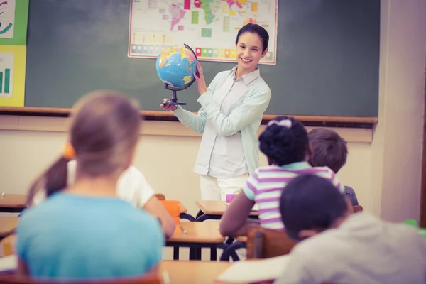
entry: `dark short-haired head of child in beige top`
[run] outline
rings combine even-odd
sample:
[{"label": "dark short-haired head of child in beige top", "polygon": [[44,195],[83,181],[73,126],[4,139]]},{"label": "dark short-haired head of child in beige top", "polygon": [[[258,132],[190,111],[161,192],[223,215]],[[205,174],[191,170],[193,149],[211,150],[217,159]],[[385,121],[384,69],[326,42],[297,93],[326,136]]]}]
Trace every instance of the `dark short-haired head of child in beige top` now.
[{"label": "dark short-haired head of child in beige top", "polygon": [[294,178],[280,198],[281,219],[288,236],[295,240],[339,226],[351,210],[337,187],[317,175]]}]

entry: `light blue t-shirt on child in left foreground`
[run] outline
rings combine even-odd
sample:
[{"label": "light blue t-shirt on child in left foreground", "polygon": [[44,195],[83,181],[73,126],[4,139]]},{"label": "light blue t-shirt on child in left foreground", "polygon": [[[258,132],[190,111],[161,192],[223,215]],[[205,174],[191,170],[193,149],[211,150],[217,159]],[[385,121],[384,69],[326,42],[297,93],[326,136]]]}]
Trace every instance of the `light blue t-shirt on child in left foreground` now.
[{"label": "light blue t-shirt on child in left foreground", "polygon": [[142,275],[161,260],[155,217],[113,197],[57,193],[23,212],[16,251],[33,277]]}]

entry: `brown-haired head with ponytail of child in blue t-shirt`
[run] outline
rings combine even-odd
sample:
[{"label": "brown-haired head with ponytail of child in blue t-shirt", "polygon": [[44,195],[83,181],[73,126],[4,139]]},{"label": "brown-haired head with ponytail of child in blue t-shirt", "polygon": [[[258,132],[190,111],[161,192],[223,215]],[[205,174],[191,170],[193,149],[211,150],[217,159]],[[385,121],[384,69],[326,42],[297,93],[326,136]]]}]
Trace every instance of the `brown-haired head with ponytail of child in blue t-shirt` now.
[{"label": "brown-haired head with ponytail of child in blue t-shirt", "polygon": [[84,96],[72,110],[67,155],[36,180],[29,201],[38,190],[51,195],[64,189],[72,158],[77,161],[77,178],[118,178],[131,165],[140,126],[137,104],[123,94],[99,91]]}]

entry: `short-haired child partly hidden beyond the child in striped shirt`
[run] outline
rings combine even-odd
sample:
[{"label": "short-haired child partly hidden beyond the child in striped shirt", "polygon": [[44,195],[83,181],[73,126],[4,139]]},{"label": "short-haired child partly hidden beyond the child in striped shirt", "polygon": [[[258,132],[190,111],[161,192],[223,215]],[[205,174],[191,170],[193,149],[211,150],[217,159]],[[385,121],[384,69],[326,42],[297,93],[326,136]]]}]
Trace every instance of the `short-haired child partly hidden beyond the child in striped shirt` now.
[{"label": "short-haired child partly hidden beyond the child in striped shirt", "polygon": [[[329,167],[337,174],[346,164],[348,156],[347,143],[344,138],[340,137],[336,131],[324,128],[312,129],[307,136],[312,146],[310,165],[312,167]],[[351,200],[352,206],[359,205],[351,187],[345,186],[344,194]]]}]

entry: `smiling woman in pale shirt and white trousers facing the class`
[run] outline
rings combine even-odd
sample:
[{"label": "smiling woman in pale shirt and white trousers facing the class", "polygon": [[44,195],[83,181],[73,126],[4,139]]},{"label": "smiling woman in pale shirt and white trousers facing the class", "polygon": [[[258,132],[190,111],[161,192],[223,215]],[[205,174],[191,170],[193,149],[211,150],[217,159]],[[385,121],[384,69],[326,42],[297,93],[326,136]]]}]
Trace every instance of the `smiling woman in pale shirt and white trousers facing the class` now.
[{"label": "smiling woman in pale shirt and white trousers facing the class", "polygon": [[[232,70],[219,72],[207,88],[203,70],[195,75],[201,104],[198,114],[163,105],[202,140],[194,171],[200,175],[202,200],[225,200],[241,190],[258,166],[257,130],[271,99],[271,89],[257,67],[268,52],[268,32],[249,23],[236,35],[236,60]],[[168,99],[164,99],[165,102]]]}]

